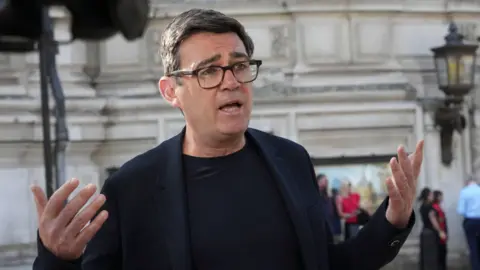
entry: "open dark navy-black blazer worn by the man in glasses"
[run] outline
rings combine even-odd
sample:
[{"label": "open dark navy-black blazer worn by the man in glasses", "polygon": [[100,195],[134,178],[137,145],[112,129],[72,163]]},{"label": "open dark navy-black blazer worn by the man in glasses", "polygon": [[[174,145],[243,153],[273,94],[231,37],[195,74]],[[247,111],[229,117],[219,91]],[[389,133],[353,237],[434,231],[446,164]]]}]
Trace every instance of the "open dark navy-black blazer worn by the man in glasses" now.
[{"label": "open dark navy-black blazer worn by the man in glasses", "polygon": [[[143,153],[105,182],[109,218],[82,258],[58,260],[38,241],[34,270],[191,270],[182,172],[184,131]],[[397,255],[405,230],[385,218],[387,201],[358,236],[333,245],[307,151],[297,143],[248,129],[274,175],[293,222],[306,270],[375,270]],[[83,266],[83,267],[82,267]]]}]

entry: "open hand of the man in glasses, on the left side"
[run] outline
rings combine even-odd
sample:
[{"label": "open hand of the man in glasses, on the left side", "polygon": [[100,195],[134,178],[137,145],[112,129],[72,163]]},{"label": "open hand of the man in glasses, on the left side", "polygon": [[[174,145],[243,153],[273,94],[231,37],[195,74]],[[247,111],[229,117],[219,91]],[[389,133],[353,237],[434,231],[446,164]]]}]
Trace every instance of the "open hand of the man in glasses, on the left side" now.
[{"label": "open hand of the man in glasses, on the left side", "polygon": [[78,185],[77,179],[65,183],[49,200],[40,187],[31,188],[37,207],[40,239],[50,252],[62,260],[80,258],[88,241],[108,217],[107,211],[104,210],[90,222],[105,203],[106,198],[103,194],[98,195],[91,204],[80,211],[95,194],[96,187],[93,184],[87,185],[65,205],[68,196]]}]

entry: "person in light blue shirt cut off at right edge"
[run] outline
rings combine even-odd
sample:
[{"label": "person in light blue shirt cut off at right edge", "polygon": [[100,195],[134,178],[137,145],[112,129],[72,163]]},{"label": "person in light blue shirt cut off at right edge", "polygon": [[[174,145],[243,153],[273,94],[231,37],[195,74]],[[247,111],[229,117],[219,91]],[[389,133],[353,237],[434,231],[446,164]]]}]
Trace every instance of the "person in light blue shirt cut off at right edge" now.
[{"label": "person in light blue shirt cut off at right edge", "polygon": [[480,270],[480,186],[470,177],[460,192],[457,212],[464,217],[463,229],[470,249],[472,270]]}]

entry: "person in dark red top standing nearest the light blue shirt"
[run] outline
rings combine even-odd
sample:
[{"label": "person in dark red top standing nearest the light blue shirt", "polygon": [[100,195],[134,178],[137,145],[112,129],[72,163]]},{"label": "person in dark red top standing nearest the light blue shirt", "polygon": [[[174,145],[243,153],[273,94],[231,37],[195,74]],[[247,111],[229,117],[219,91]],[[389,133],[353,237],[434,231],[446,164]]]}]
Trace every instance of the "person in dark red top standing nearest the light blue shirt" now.
[{"label": "person in dark red top standing nearest the light blue shirt", "polygon": [[439,190],[433,192],[433,203],[432,208],[435,211],[435,216],[437,218],[438,225],[441,231],[444,232],[444,237],[439,237],[438,244],[438,264],[440,266],[439,270],[447,269],[447,239],[448,239],[448,228],[447,228],[447,219],[445,212],[443,211],[440,204],[443,201],[443,193]]}]

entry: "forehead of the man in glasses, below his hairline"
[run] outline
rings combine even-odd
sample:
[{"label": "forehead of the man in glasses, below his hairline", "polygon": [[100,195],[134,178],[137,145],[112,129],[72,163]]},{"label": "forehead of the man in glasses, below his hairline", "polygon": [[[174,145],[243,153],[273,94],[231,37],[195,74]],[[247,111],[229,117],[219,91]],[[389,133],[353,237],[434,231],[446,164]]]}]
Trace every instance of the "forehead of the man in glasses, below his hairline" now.
[{"label": "forehead of the man in glasses, below his hairline", "polygon": [[235,33],[197,33],[184,40],[179,47],[180,65],[192,67],[196,63],[220,55],[228,60],[231,53],[247,54],[245,45]]}]

